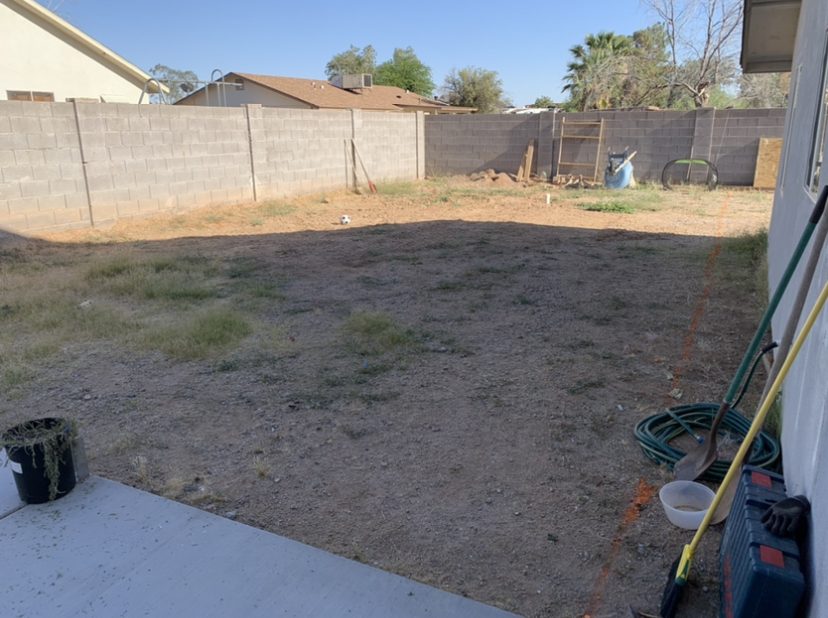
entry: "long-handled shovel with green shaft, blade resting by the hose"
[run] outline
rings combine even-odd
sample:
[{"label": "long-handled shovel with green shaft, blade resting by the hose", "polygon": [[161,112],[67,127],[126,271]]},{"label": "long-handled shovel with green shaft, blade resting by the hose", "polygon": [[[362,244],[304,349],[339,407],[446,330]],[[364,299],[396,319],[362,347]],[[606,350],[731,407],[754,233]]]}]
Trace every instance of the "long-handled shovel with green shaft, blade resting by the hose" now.
[{"label": "long-handled shovel with green shaft, blade resting by the hose", "polygon": [[[719,425],[721,425],[722,420],[733,405],[734,398],[739,390],[739,385],[745,377],[745,372],[750,365],[750,361],[759,350],[759,345],[762,343],[765,331],[767,331],[768,326],[770,326],[771,318],[773,318],[773,314],[776,312],[776,308],[779,306],[779,302],[782,300],[782,296],[788,288],[791,277],[793,277],[793,273],[799,265],[799,260],[805,252],[805,247],[811,240],[814,229],[816,228],[817,223],[819,223],[822,213],[825,211],[826,200],[828,200],[828,186],[823,187],[822,193],[819,194],[819,199],[817,199],[817,202],[814,205],[811,218],[808,220],[808,224],[802,231],[802,237],[799,239],[799,243],[794,249],[793,255],[788,262],[788,266],[782,274],[782,278],[779,280],[779,285],[776,286],[776,290],[768,303],[768,307],[762,315],[762,319],[759,322],[756,333],[753,335],[753,340],[750,342],[750,345],[745,352],[745,356],[742,358],[742,362],[736,371],[736,375],[733,376],[733,381],[730,383],[730,387],[728,388],[727,393],[719,406],[718,412],[716,412],[716,417],[713,419],[713,424],[710,426],[709,437],[704,441],[704,443],[696,445],[690,449],[687,454],[679,459],[673,466],[673,473],[677,479],[682,481],[694,481],[704,474],[705,471],[716,461],[718,457],[716,440]],[[781,363],[779,366],[781,367]]]}]

